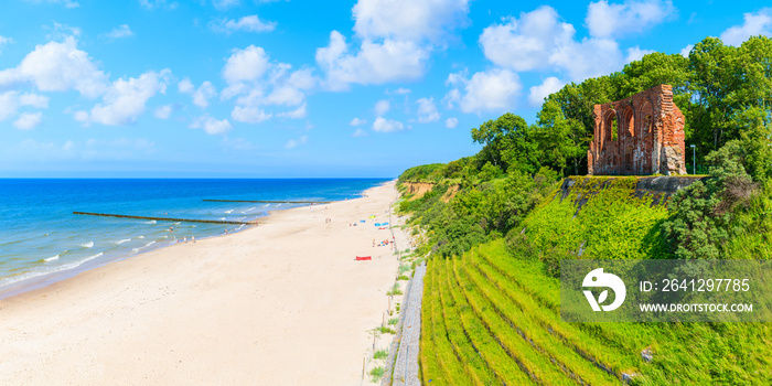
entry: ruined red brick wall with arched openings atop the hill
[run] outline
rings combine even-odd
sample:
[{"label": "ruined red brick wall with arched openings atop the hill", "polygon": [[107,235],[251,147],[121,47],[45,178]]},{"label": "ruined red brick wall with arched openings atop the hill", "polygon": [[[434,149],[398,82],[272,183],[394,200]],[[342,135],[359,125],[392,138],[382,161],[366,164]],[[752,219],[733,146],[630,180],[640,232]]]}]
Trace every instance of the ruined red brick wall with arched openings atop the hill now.
[{"label": "ruined red brick wall with arched openings atop the hill", "polygon": [[673,103],[669,85],[596,105],[593,114],[589,174],[686,174],[684,115]]}]

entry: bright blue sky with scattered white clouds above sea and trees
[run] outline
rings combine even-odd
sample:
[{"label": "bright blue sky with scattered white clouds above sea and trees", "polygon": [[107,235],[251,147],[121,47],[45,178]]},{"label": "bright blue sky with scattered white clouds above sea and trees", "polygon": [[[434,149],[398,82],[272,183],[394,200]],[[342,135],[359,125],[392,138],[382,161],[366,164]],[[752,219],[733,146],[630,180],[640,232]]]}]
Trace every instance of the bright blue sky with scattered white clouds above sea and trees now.
[{"label": "bright blue sky with scattered white clouds above sea and trees", "polygon": [[0,176],[396,176],[568,82],[770,35],[762,7],[8,0]]}]

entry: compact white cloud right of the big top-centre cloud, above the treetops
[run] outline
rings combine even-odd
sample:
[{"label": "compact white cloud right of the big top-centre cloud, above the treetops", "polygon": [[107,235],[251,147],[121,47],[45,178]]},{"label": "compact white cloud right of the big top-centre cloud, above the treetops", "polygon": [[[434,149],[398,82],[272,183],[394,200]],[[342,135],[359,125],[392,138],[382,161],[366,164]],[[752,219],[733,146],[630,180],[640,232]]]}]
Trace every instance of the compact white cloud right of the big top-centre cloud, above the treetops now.
[{"label": "compact white cloud right of the big top-centre cloud, above the treetops", "polygon": [[463,72],[450,74],[447,83],[454,87],[446,96],[447,105],[458,104],[461,111],[476,114],[514,109],[523,88],[517,74],[502,68],[476,73],[470,79]]}]

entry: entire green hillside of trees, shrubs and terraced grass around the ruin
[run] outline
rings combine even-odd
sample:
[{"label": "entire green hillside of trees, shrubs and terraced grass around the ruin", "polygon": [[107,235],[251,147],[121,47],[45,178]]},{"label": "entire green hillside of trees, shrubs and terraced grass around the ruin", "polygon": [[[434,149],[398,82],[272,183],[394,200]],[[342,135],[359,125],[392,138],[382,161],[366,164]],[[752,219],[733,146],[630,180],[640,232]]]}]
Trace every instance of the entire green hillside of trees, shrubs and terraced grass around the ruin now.
[{"label": "entire green hillside of trees, shrubs and terraced grass around the ruin", "polygon": [[[564,259],[772,258],[769,63],[766,36],[648,54],[550,94],[532,124],[481,122],[474,156],[406,170],[423,384],[772,385],[770,323],[566,323],[556,279]],[[660,84],[705,174],[576,176],[593,106]]]}]

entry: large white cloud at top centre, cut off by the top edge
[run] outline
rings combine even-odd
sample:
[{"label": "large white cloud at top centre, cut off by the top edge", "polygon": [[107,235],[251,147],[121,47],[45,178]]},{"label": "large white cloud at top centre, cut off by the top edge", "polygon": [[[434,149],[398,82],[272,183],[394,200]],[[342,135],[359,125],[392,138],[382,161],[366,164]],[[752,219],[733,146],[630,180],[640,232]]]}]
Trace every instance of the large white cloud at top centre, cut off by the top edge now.
[{"label": "large white cloud at top centre, cut off by the top edge", "polygon": [[[469,0],[358,0],[352,10],[355,42],[337,31],[317,50],[325,86],[415,81],[426,72],[429,54],[467,22]],[[358,50],[357,50],[358,46]]]}]

